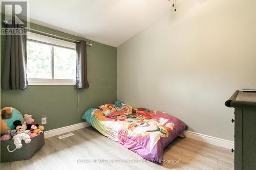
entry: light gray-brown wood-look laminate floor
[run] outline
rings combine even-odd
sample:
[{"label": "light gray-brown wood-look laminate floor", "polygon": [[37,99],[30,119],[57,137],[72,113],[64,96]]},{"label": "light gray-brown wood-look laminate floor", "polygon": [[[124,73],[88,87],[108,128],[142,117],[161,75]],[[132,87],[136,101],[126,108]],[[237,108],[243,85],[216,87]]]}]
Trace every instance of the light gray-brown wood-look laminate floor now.
[{"label": "light gray-brown wood-look laminate floor", "polygon": [[[143,161],[136,153],[101,135],[92,127],[73,131],[73,136],[47,138],[30,160],[1,163],[1,169],[233,169],[233,154],[224,148],[178,137],[164,150],[164,159],[179,163],[85,163],[84,160]],[[80,163],[77,163],[77,160]]]}]

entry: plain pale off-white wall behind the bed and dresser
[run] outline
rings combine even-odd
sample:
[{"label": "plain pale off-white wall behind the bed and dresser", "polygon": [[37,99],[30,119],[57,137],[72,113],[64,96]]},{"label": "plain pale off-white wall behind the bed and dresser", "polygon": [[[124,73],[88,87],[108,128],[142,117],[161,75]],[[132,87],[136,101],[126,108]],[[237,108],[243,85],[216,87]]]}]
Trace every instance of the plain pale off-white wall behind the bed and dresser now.
[{"label": "plain pale off-white wall behind the bed and dresser", "polygon": [[117,65],[118,100],[233,140],[224,102],[256,88],[256,1],[177,0],[177,12],[117,48]]}]

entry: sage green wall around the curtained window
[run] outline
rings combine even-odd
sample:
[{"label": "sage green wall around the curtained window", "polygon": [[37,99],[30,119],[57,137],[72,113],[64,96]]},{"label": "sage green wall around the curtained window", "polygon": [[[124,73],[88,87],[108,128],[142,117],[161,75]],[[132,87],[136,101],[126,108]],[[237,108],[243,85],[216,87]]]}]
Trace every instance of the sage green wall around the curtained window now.
[{"label": "sage green wall around the curtained window", "polygon": [[[30,28],[54,35],[81,40],[77,36],[30,23]],[[90,41],[87,47],[89,88],[79,90],[77,111],[77,89],[74,85],[29,85],[26,90],[1,90],[1,107],[11,106],[22,114],[31,114],[35,123],[41,124],[41,116],[47,115],[46,130],[83,122],[84,111],[117,99],[117,53],[116,47]],[[1,58],[5,48],[5,37],[1,36]]]}]

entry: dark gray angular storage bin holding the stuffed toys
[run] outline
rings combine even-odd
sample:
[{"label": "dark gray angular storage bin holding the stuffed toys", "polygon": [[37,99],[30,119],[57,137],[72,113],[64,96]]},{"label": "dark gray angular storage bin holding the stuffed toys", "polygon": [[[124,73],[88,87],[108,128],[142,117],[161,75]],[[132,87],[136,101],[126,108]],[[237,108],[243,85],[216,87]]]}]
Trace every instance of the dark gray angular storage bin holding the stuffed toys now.
[{"label": "dark gray angular storage bin holding the stuffed toys", "polygon": [[30,159],[41,147],[45,144],[44,133],[31,138],[30,143],[25,143],[22,140],[23,147],[16,149],[14,152],[9,152],[7,146],[9,145],[9,150],[14,150],[16,146],[13,140],[1,140],[1,160],[0,162],[10,162],[18,160]]}]

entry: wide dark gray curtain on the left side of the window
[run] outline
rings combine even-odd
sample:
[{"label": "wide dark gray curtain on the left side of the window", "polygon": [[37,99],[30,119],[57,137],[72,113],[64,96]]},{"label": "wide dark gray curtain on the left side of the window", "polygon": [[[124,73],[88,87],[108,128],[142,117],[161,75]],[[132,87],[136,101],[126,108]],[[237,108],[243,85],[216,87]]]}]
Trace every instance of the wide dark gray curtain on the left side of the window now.
[{"label": "wide dark gray curtain on the left side of the window", "polygon": [[[8,28],[20,28],[17,25],[8,25]],[[5,55],[3,63],[3,89],[26,89],[27,74],[27,36],[6,35]]]}]

